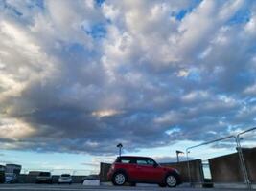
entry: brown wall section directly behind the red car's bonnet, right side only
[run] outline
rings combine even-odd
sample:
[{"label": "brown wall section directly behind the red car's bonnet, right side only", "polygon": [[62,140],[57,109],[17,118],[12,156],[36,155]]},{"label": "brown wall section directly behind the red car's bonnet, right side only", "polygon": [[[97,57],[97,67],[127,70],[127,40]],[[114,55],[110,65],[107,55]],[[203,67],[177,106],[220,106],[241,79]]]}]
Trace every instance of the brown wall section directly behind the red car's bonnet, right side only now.
[{"label": "brown wall section directly behind the red car's bonnet, right side only", "polygon": [[175,163],[163,163],[161,165],[170,166],[170,167],[177,169],[180,172],[183,182],[190,182],[190,179],[191,179],[191,182],[203,182],[204,181],[202,163],[201,163],[200,159],[189,161],[191,178],[189,178],[188,162],[187,161],[182,161],[182,162],[177,162],[177,163],[176,162]]}]

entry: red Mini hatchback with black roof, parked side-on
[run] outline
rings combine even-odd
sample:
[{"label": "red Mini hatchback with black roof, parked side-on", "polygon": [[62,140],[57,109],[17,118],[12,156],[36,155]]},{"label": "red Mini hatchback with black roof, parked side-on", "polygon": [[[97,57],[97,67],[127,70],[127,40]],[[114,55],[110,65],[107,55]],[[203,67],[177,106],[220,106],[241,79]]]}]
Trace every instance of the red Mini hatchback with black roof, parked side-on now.
[{"label": "red Mini hatchback with black roof, parked side-on", "polygon": [[153,159],[146,157],[118,157],[107,173],[107,179],[114,185],[136,183],[157,183],[159,186],[175,187],[181,183],[179,172],[163,167]]}]

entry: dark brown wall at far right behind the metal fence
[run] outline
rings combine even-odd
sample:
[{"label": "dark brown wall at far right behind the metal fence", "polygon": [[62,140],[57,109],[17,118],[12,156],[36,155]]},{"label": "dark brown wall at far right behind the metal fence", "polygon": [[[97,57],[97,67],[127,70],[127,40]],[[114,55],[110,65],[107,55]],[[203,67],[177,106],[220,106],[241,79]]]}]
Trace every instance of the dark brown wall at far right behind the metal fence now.
[{"label": "dark brown wall at far right behind the metal fence", "polygon": [[[243,149],[244,162],[249,180],[256,182],[256,148]],[[219,158],[209,159],[210,171],[213,182],[230,183],[244,182],[243,171],[238,153],[233,153]]]}]

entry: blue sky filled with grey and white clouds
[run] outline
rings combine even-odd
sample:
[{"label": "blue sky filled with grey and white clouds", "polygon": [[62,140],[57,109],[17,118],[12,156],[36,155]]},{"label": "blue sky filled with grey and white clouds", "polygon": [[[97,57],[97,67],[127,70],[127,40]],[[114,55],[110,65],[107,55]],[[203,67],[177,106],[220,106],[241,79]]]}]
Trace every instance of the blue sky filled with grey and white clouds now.
[{"label": "blue sky filled with grey and white clouds", "polygon": [[253,127],[255,41],[253,0],[0,0],[0,163],[170,161]]}]

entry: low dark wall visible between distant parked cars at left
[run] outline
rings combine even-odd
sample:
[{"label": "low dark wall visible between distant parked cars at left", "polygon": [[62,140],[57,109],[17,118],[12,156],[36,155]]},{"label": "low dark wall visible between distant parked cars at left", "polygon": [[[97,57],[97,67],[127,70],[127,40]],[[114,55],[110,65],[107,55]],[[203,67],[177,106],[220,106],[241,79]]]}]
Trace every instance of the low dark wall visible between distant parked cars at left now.
[{"label": "low dark wall visible between distant parked cars at left", "polygon": [[[53,176],[53,183],[58,183],[57,175]],[[72,176],[73,183],[81,183],[87,176]],[[21,174],[18,176],[19,183],[35,183],[36,176]]]}]

